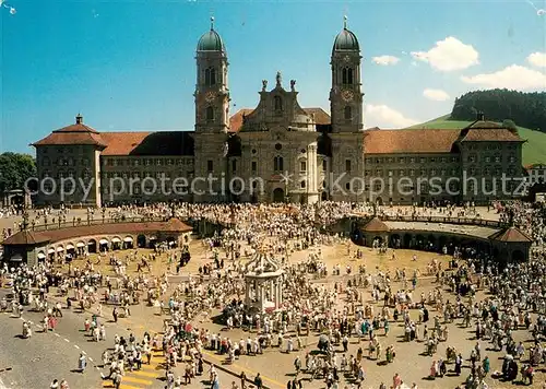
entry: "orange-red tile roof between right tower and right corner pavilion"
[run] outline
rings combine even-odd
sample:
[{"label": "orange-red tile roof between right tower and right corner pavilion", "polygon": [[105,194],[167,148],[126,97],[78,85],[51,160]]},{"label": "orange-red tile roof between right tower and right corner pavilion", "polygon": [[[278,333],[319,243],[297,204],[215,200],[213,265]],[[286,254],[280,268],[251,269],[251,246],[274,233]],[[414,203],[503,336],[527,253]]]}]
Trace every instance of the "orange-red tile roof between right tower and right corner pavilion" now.
[{"label": "orange-red tile roof between right tower and right corner pavilion", "polygon": [[449,153],[459,130],[365,130],[366,154]]}]

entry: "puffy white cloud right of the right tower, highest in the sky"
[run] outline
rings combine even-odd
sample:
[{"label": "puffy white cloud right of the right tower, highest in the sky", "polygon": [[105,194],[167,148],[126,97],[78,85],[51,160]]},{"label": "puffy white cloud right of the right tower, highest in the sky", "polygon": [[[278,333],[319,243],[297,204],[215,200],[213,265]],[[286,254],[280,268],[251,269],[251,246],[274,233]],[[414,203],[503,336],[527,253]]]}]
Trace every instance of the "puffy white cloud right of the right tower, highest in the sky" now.
[{"label": "puffy white cloud right of the right tower, highest in the sky", "polygon": [[436,46],[428,51],[412,51],[412,57],[444,72],[466,69],[479,63],[479,54],[476,49],[452,36],[437,42]]}]

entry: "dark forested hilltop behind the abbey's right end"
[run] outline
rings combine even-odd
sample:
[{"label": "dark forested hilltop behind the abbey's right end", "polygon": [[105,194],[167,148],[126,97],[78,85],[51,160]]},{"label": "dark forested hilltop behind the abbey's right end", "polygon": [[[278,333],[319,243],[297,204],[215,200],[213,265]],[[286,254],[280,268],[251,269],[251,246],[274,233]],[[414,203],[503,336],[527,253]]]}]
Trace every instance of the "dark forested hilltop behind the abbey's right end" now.
[{"label": "dark forested hilltop behind the abbey's right end", "polygon": [[518,126],[546,132],[546,92],[468,92],[455,98],[450,120],[475,120],[478,111],[485,114],[486,120],[502,122],[511,119]]}]

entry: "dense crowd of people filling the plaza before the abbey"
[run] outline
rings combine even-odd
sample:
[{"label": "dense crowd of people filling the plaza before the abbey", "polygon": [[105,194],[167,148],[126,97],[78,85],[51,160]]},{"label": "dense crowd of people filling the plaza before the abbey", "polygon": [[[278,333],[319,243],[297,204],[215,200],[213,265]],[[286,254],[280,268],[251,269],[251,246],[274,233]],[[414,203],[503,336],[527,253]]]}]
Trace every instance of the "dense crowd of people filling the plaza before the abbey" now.
[{"label": "dense crowd of people filling the plaza before the abbey", "polygon": [[[142,339],[132,334],[128,339],[116,335],[103,354],[104,379],[111,380],[117,388],[126,372],[150,363],[154,351],[159,351],[165,358],[166,387],[175,389],[205,374],[206,352],[225,357],[229,364],[277,349],[297,354],[296,375],[287,382],[289,389],[301,388],[305,381],[314,379],[323,380],[332,389],[361,388],[368,380],[368,359],[381,362],[378,367],[381,376],[392,376],[389,387],[416,389],[417,382],[410,386],[399,373],[389,372],[396,358],[393,332],[399,332],[406,342],[423,344],[418,349],[424,355],[435,358],[427,367],[430,380],[446,377],[453,364],[451,370],[455,375],[462,374],[463,366],[468,368],[464,380],[468,389],[491,387],[487,382],[492,379],[514,381],[519,375],[522,381],[532,382],[534,369],[544,364],[546,356],[546,347],[542,345],[546,338],[546,280],[542,276],[546,270],[545,210],[519,202],[498,203],[494,208],[501,221],[510,220],[533,239],[529,262],[501,269],[485,254],[458,247],[448,268],[434,261],[422,268],[422,272],[396,269],[384,273],[355,262],[342,271],[336,263],[328,264],[320,249],[348,245],[346,237],[332,234],[328,227],[351,214],[471,217],[476,214],[473,204],[378,210],[372,204],[334,202],[319,205],[182,203],[127,205],[107,211],[111,217],[168,217],[175,211],[181,220],[204,219],[224,226],[221,233],[203,239],[209,261],[200,266],[199,274],[176,285],[168,282],[169,274],[175,273],[171,267],[161,275],[151,274],[149,263],[154,263],[156,255],[153,252],[145,257],[129,254],[124,259],[112,255],[109,266],[115,279],[95,269],[88,259],[81,266],[71,263],[68,269],[49,261],[34,268],[9,269],[4,264],[1,275],[9,276],[13,283],[13,313],[21,314],[23,305],[29,304],[44,313],[45,329],[55,328],[59,313],[62,315],[59,303],[50,298],[50,287],[66,296],[67,306],[94,309],[96,314],[84,323],[84,330],[98,342],[107,339],[103,321],[110,314],[104,306],[115,306],[111,310],[115,320],[119,315],[131,315],[131,306],[139,302],[158,309],[165,316],[162,334],[150,330]],[[68,211],[57,215],[67,216]],[[177,251],[179,248],[163,250],[175,262],[181,255]],[[308,252],[306,260],[290,260],[295,252],[304,250]],[[246,267],[240,259],[252,260],[259,254],[269,256],[283,269],[283,304],[274,310],[249,311],[242,299],[247,284]],[[123,267],[139,260],[146,263],[142,266],[146,272],[126,272]],[[426,276],[435,280],[435,286],[427,293],[419,292],[418,280]],[[324,279],[331,282],[324,283]],[[141,299],[141,296],[146,297]],[[265,293],[263,298],[272,296]],[[205,326],[214,310],[223,313],[225,331],[213,331]],[[455,322],[474,329],[475,343],[465,350],[458,351],[450,345],[450,331]],[[246,330],[242,338],[241,329]],[[525,339],[532,340],[529,349],[524,345]],[[319,353],[313,350],[317,343]],[[438,355],[440,343],[447,345],[446,357]],[[491,372],[485,352],[487,344],[491,352],[506,352],[501,370]],[[81,355],[79,368],[85,370],[85,355]],[[218,389],[216,367],[210,365],[206,372],[210,386]],[[232,382],[232,388],[247,388],[249,382],[260,388],[263,379],[260,375],[244,374]],[[66,382],[64,387],[62,382],[57,385],[68,388]],[[226,384],[222,384],[224,387]],[[379,388],[387,389],[388,384],[381,382]]]}]

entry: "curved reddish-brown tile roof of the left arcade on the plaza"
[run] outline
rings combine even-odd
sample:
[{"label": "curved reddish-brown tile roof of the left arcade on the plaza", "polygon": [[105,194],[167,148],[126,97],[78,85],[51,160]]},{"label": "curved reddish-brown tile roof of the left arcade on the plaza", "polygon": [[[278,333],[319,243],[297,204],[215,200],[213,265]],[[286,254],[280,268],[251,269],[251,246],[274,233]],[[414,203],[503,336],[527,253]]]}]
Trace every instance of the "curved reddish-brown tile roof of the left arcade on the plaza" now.
[{"label": "curved reddish-brown tile roof of the left arcade on the plaza", "polygon": [[108,223],[108,224],[93,224],[82,225],[70,228],[48,229],[39,232],[19,232],[8,239],[2,245],[25,245],[33,244],[32,241],[25,243],[25,236],[33,236],[33,241],[59,241],[66,239],[78,239],[83,236],[102,237],[104,235],[123,235],[123,234],[152,234],[152,233],[187,233],[192,228],[179,221],[171,219],[168,222],[132,222],[132,223]]}]

